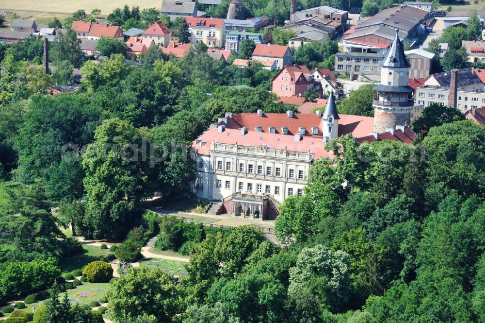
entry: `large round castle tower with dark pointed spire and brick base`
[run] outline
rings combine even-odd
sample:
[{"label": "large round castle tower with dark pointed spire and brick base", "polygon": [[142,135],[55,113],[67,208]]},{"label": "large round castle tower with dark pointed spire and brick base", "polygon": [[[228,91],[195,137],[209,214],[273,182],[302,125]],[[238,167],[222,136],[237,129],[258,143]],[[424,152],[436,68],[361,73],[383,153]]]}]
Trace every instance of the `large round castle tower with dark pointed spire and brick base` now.
[{"label": "large round castle tower with dark pointed spire and brick base", "polygon": [[381,83],[374,87],[374,132],[409,124],[414,107],[414,90],[408,85],[411,65],[404,54],[404,46],[396,36],[381,63]]}]

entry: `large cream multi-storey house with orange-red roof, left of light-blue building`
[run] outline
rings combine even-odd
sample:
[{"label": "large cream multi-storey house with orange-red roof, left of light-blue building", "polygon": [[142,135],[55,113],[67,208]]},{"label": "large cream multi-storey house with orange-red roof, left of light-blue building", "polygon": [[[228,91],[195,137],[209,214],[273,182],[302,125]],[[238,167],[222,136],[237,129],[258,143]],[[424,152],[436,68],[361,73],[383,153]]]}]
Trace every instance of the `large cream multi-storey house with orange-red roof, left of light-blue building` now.
[{"label": "large cream multi-storey house with orange-red roof, left of light-blue building", "polygon": [[185,17],[192,44],[203,42],[207,47],[223,47],[226,43],[224,19]]}]

